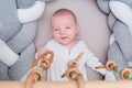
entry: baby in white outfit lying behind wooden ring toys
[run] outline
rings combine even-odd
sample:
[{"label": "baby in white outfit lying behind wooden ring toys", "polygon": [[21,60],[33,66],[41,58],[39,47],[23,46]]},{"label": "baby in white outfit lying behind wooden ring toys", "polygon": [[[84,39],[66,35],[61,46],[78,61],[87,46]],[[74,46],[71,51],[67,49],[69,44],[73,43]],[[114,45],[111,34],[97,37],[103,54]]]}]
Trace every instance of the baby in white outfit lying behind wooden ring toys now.
[{"label": "baby in white outfit lying behind wooden ring toys", "polygon": [[81,52],[84,56],[78,62],[78,68],[87,80],[86,66],[105,75],[106,69],[96,69],[96,66],[102,65],[96,55],[88,48],[85,41],[77,37],[79,25],[76,15],[68,9],[57,10],[51,19],[51,30],[53,37],[45,44],[43,48],[37,51],[37,56],[42,55],[46,50],[54,52],[54,61],[51,68],[46,72],[46,79],[52,81],[65,81],[66,78],[61,76],[67,69],[67,63],[76,58]]}]

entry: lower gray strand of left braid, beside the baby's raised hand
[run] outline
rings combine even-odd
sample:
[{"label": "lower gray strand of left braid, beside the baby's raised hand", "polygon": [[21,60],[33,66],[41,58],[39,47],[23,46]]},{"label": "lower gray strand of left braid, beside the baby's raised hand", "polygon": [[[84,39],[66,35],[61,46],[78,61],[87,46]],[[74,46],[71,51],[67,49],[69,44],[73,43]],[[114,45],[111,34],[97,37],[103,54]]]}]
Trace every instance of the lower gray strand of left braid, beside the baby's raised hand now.
[{"label": "lower gray strand of left braid, beside the baby's raised hand", "polygon": [[21,53],[19,61],[9,68],[9,77],[12,80],[21,79],[31,69],[34,55],[35,46],[32,43]]}]

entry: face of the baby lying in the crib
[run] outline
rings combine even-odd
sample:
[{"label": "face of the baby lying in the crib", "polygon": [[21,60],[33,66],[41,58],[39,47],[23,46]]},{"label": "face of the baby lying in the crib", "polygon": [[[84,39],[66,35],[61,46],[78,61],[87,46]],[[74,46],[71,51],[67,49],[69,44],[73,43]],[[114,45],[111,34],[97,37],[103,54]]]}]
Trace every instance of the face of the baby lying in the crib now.
[{"label": "face of the baby lying in the crib", "polygon": [[70,14],[54,15],[51,25],[53,37],[64,45],[70,44],[79,31],[79,26]]}]

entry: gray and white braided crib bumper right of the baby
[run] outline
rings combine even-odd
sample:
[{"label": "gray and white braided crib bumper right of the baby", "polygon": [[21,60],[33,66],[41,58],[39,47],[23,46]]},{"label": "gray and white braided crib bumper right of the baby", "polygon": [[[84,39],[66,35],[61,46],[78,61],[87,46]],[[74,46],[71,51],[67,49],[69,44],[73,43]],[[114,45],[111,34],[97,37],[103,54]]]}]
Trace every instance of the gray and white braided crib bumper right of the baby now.
[{"label": "gray and white braided crib bumper right of the baby", "polygon": [[[132,0],[97,0],[100,10],[109,9],[108,25],[112,31],[108,58],[119,67],[132,67]],[[103,2],[103,4],[101,4]],[[106,11],[105,11],[106,12]],[[113,73],[116,79],[120,74]]]}]

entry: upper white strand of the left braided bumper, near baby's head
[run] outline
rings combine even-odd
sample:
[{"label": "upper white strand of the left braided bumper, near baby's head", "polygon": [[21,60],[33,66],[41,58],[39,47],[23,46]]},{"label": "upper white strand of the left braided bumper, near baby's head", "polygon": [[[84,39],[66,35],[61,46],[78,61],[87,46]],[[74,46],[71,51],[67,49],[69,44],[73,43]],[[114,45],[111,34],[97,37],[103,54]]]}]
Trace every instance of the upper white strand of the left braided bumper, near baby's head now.
[{"label": "upper white strand of the left braided bumper, near baby's head", "polygon": [[45,2],[35,1],[35,4],[29,9],[18,9],[18,18],[21,23],[31,22],[37,20],[45,8]]}]

